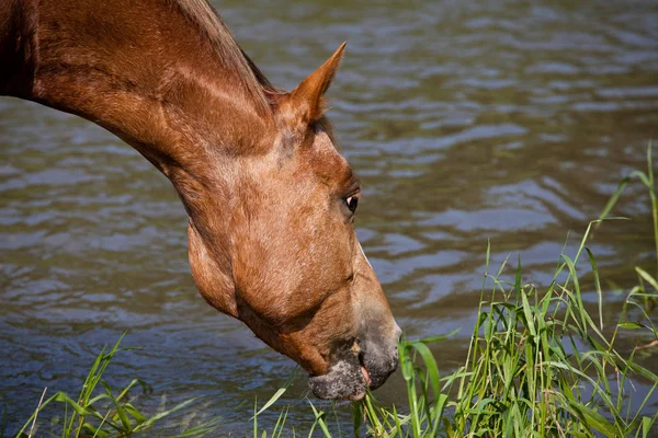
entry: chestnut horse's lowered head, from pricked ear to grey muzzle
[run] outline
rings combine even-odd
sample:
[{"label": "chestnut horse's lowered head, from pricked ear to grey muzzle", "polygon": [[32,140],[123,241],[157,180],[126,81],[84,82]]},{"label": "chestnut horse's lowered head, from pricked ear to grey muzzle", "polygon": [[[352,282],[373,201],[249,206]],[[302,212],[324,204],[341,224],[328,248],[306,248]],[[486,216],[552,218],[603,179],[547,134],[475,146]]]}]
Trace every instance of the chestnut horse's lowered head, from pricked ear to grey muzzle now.
[{"label": "chestnut horse's lowered head, from pricked ear to grey muzzle", "polygon": [[[200,208],[189,230],[204,298],[302,365],[324,399],[360,399],[383,384],[400,335],[354,232],[361,184],[324,115],[343,49],[292,92],[270,93],[269,147],[235,160],[234,195]],[[196,224],[215,208],[229,226],[202,233]],[[213,255],[225,242],[229,268]]]}]

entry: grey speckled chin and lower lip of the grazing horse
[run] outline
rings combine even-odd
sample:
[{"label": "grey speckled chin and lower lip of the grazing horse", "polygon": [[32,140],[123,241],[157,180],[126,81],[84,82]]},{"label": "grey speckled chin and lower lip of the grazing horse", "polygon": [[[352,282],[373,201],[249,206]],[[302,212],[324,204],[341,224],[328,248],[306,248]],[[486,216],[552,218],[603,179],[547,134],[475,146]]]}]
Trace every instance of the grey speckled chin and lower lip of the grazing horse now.
[{"label": "grey speckled chin and lower lip of the grazing horse", "polygon": [[368,384],[368,372],[355,356],[337,361],[326,374],[308,379],[313,393],[326,400],[361,400]]}]

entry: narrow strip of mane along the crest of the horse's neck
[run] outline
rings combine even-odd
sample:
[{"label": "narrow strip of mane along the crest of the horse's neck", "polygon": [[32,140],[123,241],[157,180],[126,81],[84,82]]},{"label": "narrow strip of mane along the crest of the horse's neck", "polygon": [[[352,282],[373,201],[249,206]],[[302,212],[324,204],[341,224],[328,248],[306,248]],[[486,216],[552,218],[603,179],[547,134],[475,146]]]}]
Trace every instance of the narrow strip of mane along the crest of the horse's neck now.
[{"label": "narrow strip of mane along the crest of the horse's neck", "polygon": [[265,114],[270,113],[272,95],[280,94],[282,91],[270,83],[263,72],[238,46],[217,11],[206,0],[171,1],[208,38],[220,62],[237,72],[245,91],[253,97],[258,110]]}]

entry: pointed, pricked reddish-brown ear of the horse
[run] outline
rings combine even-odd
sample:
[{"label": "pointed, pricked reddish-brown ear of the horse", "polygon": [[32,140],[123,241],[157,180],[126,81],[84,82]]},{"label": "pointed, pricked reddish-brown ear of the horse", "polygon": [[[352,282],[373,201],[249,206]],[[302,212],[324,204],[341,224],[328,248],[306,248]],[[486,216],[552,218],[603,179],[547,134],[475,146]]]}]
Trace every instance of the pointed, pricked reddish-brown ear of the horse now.
[{"label": "pointed, pricked reddish-brown ear of the horse", "polygon": [[316,71],[310,73],[290,94],[290,110],[303,122],[317,120],[325,112],[325,92],[331,85],[331,81],[338,71],[347,42],[325,61]]}]

